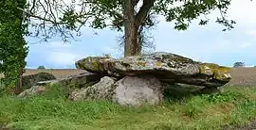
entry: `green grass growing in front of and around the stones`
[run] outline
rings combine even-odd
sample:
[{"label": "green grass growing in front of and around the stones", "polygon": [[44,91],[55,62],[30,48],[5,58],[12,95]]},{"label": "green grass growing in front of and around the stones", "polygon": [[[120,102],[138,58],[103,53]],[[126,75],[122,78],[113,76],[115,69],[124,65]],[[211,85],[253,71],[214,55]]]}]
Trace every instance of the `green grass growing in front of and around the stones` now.
[{"label": "green grass growing in front of and around the stones", "polygon": [[221,129],[256,118],[256,89],[226,87],[221,94],[170,96],[161,106],[125,107],[106,101],[71,102],[64,88],[26,100],[3,95],[0,123],[14,130]]}]

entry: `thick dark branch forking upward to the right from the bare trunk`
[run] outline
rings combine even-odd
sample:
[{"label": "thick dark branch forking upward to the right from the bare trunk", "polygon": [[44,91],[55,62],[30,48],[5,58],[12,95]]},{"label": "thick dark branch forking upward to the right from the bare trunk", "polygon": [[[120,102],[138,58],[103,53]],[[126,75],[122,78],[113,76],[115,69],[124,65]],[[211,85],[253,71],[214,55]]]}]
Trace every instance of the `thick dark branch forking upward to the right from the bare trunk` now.
[{"label": "thick dark branch forking upward to the right from the bare trunk", "polygon": [[143,20],[147,17],[150,8],[154,6],[155,0],[143,0],[143,5],[139,9],[136,15],[137,24],[141,24]]}]

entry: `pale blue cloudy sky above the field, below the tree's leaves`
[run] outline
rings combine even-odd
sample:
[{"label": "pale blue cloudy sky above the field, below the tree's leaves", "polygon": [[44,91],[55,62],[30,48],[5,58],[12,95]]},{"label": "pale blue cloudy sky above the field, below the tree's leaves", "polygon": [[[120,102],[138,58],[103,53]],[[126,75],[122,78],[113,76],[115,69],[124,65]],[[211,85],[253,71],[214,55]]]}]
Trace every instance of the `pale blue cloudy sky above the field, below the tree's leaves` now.
[{"label": "pale blue cloudy sky above the field, below the tree's leaves", "polygon": [[[201,26],[193,21],[186,31],[177,31],[174,24],[158,17],[159,24],[151,31],[154,36],[155,52],[168,52],[196,61],[232,66],[234,62],[245,62],[246,66],[256,65],[256,2],[232,0],[229,19],[237,24],[231,31],[223,32],[224,26],[215,24],[218,11],[210,14],[210,24]],[[94,32],[97,32],[95,35]],[[120,34],[108,28],[93,30],[83,27],[77,41],[64,43],[58,38],[36,43],[38,39],[27,37],[29,52],[27,68],[75,68],[75,62],[83,57],[110,54],[122,57],[119,46]]]}]

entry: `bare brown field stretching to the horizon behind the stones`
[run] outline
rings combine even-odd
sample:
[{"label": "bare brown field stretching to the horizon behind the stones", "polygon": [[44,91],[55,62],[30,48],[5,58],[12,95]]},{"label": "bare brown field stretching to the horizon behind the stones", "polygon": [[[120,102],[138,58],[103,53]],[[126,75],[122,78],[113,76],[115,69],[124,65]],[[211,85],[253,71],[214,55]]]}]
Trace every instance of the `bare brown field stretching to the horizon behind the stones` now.
[{"label": "bare brown field stretching to the horizon behind the stones", "polygon": [[[46,72],[52,73],[57,78],[66,77],[68,75],[74,75],[79,73],[84,73],[86,71],[77,70],[77,69],[46,69],[46,70],[36,70],[36,69],[27,69],[25,75]],[[232,68],[231,71],[232,79],[229,82],[229,85],[235,86],[256,86],[256,68]],[[0,77],[2,75],[0,74]]]}]

